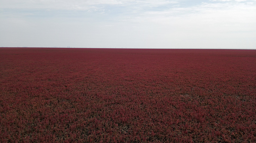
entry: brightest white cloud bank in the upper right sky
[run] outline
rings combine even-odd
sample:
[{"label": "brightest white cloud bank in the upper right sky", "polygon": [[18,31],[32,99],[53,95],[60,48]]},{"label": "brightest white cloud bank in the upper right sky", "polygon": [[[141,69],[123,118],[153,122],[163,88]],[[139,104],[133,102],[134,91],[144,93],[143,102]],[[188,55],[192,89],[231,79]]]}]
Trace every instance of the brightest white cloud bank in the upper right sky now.
[{"label": "brightest white cloud bank in the upper right sky", "polygon": [[[138,18],[139,16],[139,18]],[[202,3],[191,7],[174,7],[164,11],[144,11],[135,21],[148,19],[159,24],[172,24],[177,21],[190,24],[239,25],[256,23],[256,6],[245,4]],[[181,24],[181,23],[179,23]],[[256,26],[255,26],[256,27]],[[252,27],[248,27],[252,28]]]}]

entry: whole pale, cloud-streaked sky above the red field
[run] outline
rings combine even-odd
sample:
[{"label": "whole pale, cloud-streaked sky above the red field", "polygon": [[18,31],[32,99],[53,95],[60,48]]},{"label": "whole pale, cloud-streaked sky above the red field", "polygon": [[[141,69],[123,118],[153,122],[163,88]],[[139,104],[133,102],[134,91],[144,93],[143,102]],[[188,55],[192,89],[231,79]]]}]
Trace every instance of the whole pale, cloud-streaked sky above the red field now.
[{"label": "whole pale, cloud-streaked sky above the red field", "polygon": [[0,47],[256,49],[256,0],[0,0]]}]

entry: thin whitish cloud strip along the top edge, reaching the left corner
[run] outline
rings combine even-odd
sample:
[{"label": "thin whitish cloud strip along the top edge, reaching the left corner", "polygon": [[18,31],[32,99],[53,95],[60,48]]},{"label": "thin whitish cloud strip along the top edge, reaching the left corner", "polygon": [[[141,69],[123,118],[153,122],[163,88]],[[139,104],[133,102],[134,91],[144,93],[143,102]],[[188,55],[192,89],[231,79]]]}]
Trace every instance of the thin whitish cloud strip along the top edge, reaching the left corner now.
[{"label": "thin whitish cloud strip along the top edge, reaching the left corner", "polygon": [[155,7],[173,4],[168,0],[3,0],[0,8],[44,8],[62,10],[89,10],[98,5],[133,5]]}]

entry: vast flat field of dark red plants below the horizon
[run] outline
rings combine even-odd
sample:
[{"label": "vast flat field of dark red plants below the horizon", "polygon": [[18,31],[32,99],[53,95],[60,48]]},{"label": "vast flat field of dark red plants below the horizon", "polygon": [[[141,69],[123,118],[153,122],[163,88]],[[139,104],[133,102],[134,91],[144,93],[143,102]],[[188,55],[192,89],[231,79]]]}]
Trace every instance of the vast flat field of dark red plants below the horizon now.
[{"label": "vast flat field of dark red plants below the horizon", "polygon": [[256,50],[0,48],[0,142],[256,142]]}]

